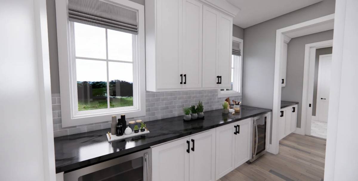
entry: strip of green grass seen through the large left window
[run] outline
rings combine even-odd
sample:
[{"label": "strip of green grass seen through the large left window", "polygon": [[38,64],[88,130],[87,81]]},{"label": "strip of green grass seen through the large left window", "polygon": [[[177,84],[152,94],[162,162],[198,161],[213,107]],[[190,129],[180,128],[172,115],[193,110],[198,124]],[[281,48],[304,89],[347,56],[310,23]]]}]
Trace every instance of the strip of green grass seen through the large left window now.
[{"label": "strip of green grass seen through the large left window", "polygon": [[[110,108],[133,106],[133,97],[111,97]],[[107,109],[107,100],[78,102],[78,111]]]}]

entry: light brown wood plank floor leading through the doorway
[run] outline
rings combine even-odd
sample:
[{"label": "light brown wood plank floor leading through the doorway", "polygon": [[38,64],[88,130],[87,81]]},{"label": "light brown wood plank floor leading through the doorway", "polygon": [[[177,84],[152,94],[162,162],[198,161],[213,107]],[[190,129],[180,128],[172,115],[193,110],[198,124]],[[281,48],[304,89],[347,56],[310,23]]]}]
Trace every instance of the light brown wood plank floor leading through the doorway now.
[{"label": "light brown wood plank floor leading through the doorway", "polygon": [[280,141],[279,154],[267,152],[219,181],[323,181],[326,140],[290,134]]}]

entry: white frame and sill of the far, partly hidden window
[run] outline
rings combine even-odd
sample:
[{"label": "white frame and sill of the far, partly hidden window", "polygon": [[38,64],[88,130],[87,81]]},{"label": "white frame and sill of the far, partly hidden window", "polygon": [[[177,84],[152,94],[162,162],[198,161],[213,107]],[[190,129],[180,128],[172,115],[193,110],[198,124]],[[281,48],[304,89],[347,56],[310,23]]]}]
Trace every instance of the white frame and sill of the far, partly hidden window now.
[{"label": "white frame and sill of the far, partly hidden window", "polygon": [[[236,42],[238,44],[240,44],[240,50],[241,50],[241,56],[240,58],[240,62],[239,64],[235,64],[234,62],[234,70],[240,70],[240,72],[238,73],[237,71],[235,71],[233,73],[233,82],[238,81],[237,84],[233,83],[233,90],[229,90],[229,91],[221,91],[220,89],[218,90],[218,97],[231,97],[231,96],[241,96],[242,95],[242,57],[243,57],[243,44],[244,44],[244,40],[238,38],[238,37],[232,37],[232,41]],[[236,85],[236,86],[235,86]],[[234,87],[235,86],[235,87]]]}]

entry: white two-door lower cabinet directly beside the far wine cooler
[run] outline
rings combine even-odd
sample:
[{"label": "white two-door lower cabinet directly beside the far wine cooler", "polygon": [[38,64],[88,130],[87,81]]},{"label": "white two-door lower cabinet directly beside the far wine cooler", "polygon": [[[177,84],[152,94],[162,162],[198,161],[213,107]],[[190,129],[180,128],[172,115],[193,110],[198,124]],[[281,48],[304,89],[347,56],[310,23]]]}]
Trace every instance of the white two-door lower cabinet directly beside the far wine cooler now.
[{"label": "white two-door lower cabinet directly beside the far wine cooler", "polygon": [[216,128],[216,180],[250,159],[252,118]]}]

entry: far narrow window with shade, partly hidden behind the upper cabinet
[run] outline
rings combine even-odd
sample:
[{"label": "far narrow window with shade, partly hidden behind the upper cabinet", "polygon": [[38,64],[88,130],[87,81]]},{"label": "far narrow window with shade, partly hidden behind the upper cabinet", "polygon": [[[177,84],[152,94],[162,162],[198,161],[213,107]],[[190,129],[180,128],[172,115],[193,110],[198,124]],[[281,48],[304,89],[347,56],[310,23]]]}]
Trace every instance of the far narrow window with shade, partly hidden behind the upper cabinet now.
[{"label": "far narrow window with shade, partly hidden behind the upper cabinet", "polygon": [[218,97],[241,96],[242,95],[242,49],[243,40],[233,37],[231,55],[231,87],[219,89]]}]

